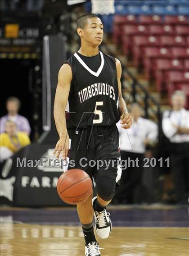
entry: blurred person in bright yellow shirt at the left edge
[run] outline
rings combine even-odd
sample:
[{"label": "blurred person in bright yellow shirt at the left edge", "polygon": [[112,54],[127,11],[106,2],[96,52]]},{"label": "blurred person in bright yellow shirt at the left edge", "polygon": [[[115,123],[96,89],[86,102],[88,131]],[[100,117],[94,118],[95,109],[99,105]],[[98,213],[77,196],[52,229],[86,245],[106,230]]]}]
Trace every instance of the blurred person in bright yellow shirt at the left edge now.
[{"label": "blurred person in bright yellow shirt at the left edge", "polygon": [[0,161],[9,158],[22,147],[30,144],[26,133],[17,132],[17,125],[13,121],[5,122],[5,133],[0,134]]}]

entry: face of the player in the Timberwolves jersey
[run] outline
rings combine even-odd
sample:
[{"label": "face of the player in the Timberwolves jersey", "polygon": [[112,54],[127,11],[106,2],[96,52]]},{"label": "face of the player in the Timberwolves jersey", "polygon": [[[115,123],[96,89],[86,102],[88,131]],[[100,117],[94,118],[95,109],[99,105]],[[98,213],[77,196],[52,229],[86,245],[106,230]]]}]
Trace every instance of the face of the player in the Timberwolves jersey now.
[{"label": "face of the player in the Timberwolves jersey", "polygon": [[88,18],[83,30],[83,40],[99,46],[103,40],[103,24],[100,18]]}]

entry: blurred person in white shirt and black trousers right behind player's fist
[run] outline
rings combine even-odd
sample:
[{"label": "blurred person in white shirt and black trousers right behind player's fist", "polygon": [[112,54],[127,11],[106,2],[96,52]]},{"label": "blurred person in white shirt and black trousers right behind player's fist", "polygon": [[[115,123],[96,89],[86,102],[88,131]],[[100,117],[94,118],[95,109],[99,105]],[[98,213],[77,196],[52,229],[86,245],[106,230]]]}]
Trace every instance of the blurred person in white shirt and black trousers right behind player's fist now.
[{"label": "blurred person in white shirt and black trousers right behind player's fist", "polygon": [[[141,117],[142,110],[134,103],[131,106],[130,114],[133,117],[133,124],[130,129],[121,129],[120,122],[117,128],[120,133],[121,160],[127,161],[127,168],[122,169],[120,187],[117,189],[116,198],[120,203],[134,203],[135,189],[141,185],[144,154],[146,146],[157,142],[157,124]],[[137,160],[138,159],[138,160]],[[138,161],[138,166],[133,166],[132,161]],[[130,166],[128,163],[130,161]]]}]

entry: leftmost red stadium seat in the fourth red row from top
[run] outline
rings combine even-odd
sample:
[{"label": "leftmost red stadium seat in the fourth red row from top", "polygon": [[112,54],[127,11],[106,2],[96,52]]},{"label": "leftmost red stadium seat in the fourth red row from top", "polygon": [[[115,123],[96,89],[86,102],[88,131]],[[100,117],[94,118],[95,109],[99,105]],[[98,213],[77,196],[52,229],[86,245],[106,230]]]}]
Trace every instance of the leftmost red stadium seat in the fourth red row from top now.
[{"label": "leftmost red stadium seat in the fourth red row from top", "polygon": [[145,47],[144,48],[144,72],[145,77],[150,78],[150,73],[153,68],[153,60],[157,58],[170,58],[171,59],[171,49],[170,48],[159,48],[159,47]]}]

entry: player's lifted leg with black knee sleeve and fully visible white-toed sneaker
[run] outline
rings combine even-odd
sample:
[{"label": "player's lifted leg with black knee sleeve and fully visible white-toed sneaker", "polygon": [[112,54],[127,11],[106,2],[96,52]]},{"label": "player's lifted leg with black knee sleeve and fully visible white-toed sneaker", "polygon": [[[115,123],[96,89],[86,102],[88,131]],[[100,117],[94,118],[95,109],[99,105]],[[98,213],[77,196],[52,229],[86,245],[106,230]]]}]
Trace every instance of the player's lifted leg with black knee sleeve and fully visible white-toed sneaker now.
[{"label": "player's lifted leg with black knee sleeve and fully visible white-toed sneaker", "polygon": [[99,152],[96,159],[101,160],[102,165],[94,174],[98,196],[93,198],[92,204],[96,232],[101,239],[105,239],[108,238],[112,229],[106,206],[114,197],[117,181],[121,178],[119,133],[116,126],[101,127],[98,132]]}]

